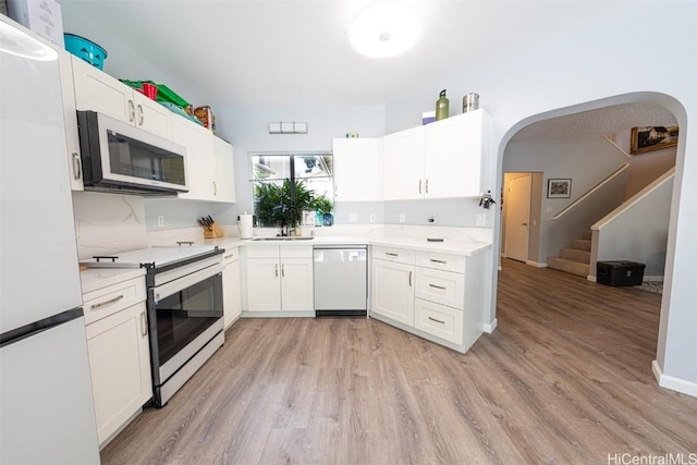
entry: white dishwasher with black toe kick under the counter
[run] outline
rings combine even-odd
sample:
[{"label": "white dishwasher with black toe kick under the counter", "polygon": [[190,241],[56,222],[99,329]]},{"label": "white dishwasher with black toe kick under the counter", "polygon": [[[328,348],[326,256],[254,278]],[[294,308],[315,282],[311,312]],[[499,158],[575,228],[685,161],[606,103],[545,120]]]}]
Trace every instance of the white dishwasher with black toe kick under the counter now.
[{"label": "white dishwasher with black toe kick under the counter", "polygon": [[368,261],[365,245],[315,246],[315,313],[365,316],[368,308]]}]

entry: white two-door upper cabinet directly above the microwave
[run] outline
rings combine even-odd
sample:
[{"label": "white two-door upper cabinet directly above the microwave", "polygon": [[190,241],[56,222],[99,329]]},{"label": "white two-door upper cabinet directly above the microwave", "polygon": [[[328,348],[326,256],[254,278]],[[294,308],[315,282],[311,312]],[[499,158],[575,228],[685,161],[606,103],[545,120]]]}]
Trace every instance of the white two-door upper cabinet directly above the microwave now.
[{"label": "white two-door upper cabinet directly above the microwave", "polygon": [[170,135],[170,110],[77,57],[72,64],[77,110],[105,113],[160,137]]}]

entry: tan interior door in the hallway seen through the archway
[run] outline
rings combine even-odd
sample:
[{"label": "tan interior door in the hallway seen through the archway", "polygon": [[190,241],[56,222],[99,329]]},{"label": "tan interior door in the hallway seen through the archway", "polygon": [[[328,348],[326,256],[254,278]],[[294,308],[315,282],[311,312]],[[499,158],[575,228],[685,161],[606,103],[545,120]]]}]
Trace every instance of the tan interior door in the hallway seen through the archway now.
[{"label": "tan interior door in the hallway seen through the archway", "polygon": [[505,256],[527,261],[533,175],[509,176],[505,189]]}]

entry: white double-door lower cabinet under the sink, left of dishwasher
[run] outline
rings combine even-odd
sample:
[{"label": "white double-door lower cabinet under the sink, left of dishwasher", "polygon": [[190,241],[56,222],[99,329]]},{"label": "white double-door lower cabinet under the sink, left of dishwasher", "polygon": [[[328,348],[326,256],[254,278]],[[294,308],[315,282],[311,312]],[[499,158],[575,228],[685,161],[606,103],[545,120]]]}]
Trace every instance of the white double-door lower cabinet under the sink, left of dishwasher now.
[{"label": "white double-door lower cabinet under the sink, left of dishwasher", "polygon": [[247,247],[246,310],[314,311],[313,247]]}]

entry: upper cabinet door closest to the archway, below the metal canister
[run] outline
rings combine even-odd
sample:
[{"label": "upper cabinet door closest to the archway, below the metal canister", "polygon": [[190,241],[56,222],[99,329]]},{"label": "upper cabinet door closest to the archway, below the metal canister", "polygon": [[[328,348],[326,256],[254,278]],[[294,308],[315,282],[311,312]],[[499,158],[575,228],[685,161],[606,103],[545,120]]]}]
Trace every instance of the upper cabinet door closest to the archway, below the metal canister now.
[{"label": "upper cabinet door closest to the archway, below the metal canister", "polygon": [[478,110],[426,126],[426,198],[481,193],[482,114]]}]

